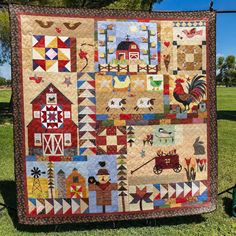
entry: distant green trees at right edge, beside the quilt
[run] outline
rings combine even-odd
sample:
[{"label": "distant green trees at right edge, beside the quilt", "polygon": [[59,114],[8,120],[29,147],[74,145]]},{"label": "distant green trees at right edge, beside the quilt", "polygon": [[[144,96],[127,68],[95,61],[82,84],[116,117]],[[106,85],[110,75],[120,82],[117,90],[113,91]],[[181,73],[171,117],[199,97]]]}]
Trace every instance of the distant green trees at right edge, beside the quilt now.
[{"label": "distant green trees at right edge, beside the quilt", "polygon": [[219,57],[217,60],[218,84],[225,84],[226,87],[236,85],[236,60],[235,56],[229,55],[226,58]]}]

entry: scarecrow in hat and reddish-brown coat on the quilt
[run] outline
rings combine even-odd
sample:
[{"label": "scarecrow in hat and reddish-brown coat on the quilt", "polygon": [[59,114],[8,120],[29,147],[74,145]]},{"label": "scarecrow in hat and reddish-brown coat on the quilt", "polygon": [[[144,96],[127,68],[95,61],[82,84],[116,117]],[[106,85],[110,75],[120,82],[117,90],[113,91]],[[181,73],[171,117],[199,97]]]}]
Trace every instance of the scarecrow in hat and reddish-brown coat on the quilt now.
[{"label": "scarecrow in hat and reddish-brown coat on the quilt", "polygon": [[[99,162],[101,167],[105,162]],[[106,212],[106,206],[112,205],[112,190],[117,190],[117,184],[110,182],[110,174],[106,168],[101,168],[97,172],[97,180],[90,176],[88,178],[89,191],[96,191],[97,206],[102,206],[103,213]]]}]

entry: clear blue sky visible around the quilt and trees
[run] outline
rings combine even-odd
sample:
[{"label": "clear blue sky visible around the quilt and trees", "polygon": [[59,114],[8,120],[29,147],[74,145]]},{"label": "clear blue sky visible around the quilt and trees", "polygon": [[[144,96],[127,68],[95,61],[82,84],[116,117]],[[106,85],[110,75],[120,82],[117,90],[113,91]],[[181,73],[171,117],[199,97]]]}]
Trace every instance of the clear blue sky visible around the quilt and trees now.
[{"label": "clear blue sky visible around the quilt and trees", "polygon": [[[154,11],[188,11],[207,10],[210,0],[163,0],[154,4]],[[236,0],[214,0],[216,10],[236,10]],[[217,56],[236,55],[236,13],[217,14],[216,54]],[[0,67],[0,76],[11,78],[11,67],[5,64]]]}]

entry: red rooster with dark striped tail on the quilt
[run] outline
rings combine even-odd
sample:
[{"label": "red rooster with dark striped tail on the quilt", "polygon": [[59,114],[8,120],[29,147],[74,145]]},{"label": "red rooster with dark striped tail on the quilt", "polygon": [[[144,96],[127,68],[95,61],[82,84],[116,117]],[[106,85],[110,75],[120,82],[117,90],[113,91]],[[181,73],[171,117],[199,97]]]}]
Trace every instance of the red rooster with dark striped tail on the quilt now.
[{"label": "red rooster with dark striped tail on the quilt", "polygon": [[[175,80],[174,98],[176,101],[184,105],[184,111],[189,110],[189,104],[192,102],[200,102],[203,96],[206,94],[206,81],[204,81],[202,75],[195,75],[190,82],[187,82],[188,93],[184,91],[182,83],[183,79]],[[187,108],[187,109],[186,109]]]}]

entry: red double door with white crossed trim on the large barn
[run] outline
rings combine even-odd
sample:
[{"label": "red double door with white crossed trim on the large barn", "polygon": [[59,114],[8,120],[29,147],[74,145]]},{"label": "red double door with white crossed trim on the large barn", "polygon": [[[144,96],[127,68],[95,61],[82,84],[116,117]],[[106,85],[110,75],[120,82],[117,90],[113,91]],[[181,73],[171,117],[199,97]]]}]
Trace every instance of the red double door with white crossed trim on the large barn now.
[{"label": "red double door with white crossed trim on the large barn", "polygon": [[62,134],[43,134],[43,154],[45,156],[61,156],[63,153]]}]

